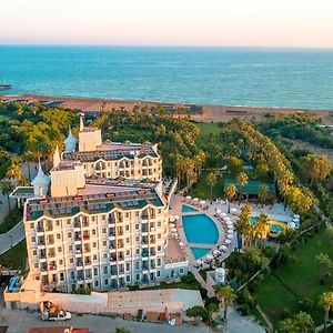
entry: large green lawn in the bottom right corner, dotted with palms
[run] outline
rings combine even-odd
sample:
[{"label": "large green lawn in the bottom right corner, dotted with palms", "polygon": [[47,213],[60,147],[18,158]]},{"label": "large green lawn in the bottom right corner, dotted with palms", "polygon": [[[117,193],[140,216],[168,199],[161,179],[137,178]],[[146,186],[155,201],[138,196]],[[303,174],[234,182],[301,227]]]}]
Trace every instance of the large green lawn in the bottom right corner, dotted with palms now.
[{"label": "large green lawn in the bottom right corner, dotted with palms", "polygon": [[305,244],[299,245],[293,252],[295,262],[272,272],[263,284],[255,291],[255,297],[266,312],[273,324],[281,320],[284,307],[292,313],[301,310],[300,301],[309,297],[313,309],[309,312],[315,324],[323,320],[323,310],[317,306],[319,296],[330,290],[329,283],[320,284],[315,256],[320,253],[329,254],[333,259],[332,236],[322,231]]}]

